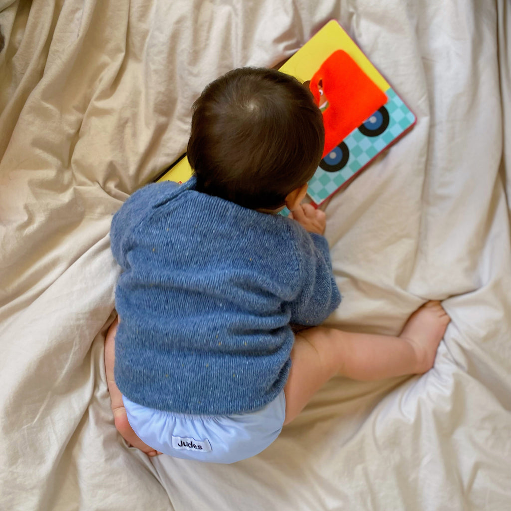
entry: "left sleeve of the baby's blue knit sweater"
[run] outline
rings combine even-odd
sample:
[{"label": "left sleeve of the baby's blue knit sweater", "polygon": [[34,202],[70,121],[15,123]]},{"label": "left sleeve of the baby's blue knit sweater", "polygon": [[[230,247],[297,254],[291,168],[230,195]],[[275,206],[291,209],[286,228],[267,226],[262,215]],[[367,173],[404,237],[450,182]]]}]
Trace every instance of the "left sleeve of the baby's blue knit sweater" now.
[{"label": "left sleeve of the baby's blue knit sweater", "polygon": [[123,270],[129,268],[127,254],[132,248],[135,229],[147,219],[151,211],[169,192],[179,185],[170,181],[152,183],[134,192],[112,218],[110,245],[113,257]]}]

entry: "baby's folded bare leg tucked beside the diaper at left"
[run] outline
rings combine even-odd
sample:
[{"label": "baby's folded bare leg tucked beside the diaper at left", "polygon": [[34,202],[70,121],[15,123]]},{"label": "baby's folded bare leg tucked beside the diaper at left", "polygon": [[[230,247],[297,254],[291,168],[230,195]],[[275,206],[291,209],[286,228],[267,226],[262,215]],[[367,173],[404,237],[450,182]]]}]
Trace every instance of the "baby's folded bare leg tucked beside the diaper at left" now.
[{"label": "baby's folded bare leg tucked beside the diaper at left", "polygon": [[106,382],[108,384],[108,391],[110,392],[113,421],[115,423],[115,427],[119,433],[121,433],[121,436],[126,440],[126,442],[128,442],[128,444],[130,444],[132,447],[140,449],[148,456],[156,456],[157,454],[161,453],[142,442],[142,440],[136,436],[136,433],[130,426],[128,422],[128,415],[126,414],[126,409],[124,408],[123,395],[118,386],[115,385],[113,367],[115,361],[115,332],[117,332],[118,325],[118,318],[115,318],[115,321],[111,324],[110,329],[106,334],[105,340]]}]

